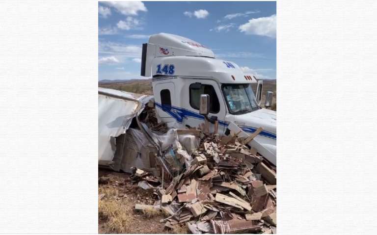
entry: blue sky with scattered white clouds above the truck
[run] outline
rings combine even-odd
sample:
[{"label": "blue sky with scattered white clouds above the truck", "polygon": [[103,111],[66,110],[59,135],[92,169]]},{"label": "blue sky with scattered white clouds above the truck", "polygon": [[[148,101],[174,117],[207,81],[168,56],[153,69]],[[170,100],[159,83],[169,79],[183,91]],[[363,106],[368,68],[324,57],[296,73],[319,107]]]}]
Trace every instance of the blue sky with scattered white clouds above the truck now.
[{"label": "blue sky with scattered white clouds above the truck", "polygon": [[244,72],[276,78],[276,2],[123,1],[98,4],[98,78],[140,76],[149,35],[181,35],[211,48]]}]

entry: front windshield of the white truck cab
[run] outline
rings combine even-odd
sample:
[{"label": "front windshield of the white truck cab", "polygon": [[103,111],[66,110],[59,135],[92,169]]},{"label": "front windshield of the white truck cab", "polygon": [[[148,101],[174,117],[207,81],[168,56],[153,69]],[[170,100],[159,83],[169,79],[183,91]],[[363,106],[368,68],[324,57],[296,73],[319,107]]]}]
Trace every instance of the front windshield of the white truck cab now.
[{"label": "front windshield of the white truck cab", "polygon": [[250,83],[222,85],[229,112],[243,114],[259,109]]}]

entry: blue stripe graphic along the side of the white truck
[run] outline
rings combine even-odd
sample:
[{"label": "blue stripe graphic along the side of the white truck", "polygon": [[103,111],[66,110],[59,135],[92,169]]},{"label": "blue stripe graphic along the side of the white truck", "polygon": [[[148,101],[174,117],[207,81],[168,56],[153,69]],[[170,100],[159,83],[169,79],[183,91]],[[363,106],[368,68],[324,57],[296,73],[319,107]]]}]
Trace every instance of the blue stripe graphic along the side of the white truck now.
[{"label": "blue stripe graphic along the side of the white truck", "polygon": [[[201,115],[199,113],[192,112],[192,111],[185,109],[185,108],[170,106],[170,105],[162,105],[162,104],[159,104],[157,102],[155,102],[155,104],[158,108],[160,108],[162,111],[168,113],[170,116],[172,116],[179,123],[182,123],[183,119],[188,118],[188,117],[204,120],[203,115]],[[218,120],[218,124],[220,126],[228,127],[229,122]],[[249,133],[253,133],[254,131],[256,131],[258,129],[258,128],[255,128],[255,127],[242,126],[242,125],[239,125],[239,127],[243,131],[249,132]],[[269,132],[269,131],[261,131],[259,133],[259,135],[264,136],[264,137],[268,137],[268,138],[272,138],[272,139],[276,139],[276,134]]]}]

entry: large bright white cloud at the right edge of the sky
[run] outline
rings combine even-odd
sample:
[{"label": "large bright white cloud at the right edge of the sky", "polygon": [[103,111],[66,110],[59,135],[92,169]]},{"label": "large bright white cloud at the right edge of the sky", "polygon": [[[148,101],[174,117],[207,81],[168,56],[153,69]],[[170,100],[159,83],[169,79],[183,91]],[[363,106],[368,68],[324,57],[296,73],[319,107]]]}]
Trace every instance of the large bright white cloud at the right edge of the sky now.
[{"label": "large bright white cloud at the right edge of the sky", "polygon": [[276,38],[276,15],[251,19],[239,27],[245,34],[255,34]]}]

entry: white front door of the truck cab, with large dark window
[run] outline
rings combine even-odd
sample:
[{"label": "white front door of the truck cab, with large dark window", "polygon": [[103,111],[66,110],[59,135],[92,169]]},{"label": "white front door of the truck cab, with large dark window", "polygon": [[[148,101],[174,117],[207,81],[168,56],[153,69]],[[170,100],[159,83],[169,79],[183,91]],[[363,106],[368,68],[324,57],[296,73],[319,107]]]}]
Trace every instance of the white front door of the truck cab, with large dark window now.
[{"label": "white front door of the truck cab, with large dark window", "polygon": [[[184,124],[190,127],[199,127],[199,125],[204,123],[204,116],[198,115],[200,95],[208,94],[210,96],[210,113],[208,114],[208,117],[211,118],[211,116],[216,116],[219,121],[217,132],[219,134],[224,133],[226,109],[218,83],[211,79],[196,78],[186,78],[185,81],[185,92],[183,92],[183,95],[187,92],[188,99],[182,99],[182,106],[185,106],[192,115],[188,115],[187,118],[184,119]],[[185,97],[187,97],[187,95],[185,95]],[[213,132],[215,130],[215,125],[211,123],[209,125],[210,131]]]}]

